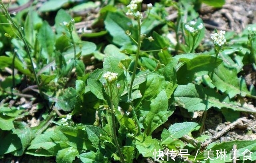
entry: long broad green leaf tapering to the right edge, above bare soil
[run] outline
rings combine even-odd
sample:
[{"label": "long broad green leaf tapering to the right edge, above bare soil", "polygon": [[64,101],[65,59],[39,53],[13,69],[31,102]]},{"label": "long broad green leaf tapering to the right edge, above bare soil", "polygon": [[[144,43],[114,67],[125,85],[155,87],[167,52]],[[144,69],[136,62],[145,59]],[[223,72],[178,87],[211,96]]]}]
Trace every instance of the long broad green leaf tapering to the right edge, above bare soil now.
[{"label": "long broad green leaf tapering to the right edge, above bare soil", "polygon": [[[208,101],[206,100],[207,95]],[[188,111],[207,110],[210,107],[217,107],[218,109],[226,107],[236,111],[256,113],[254,108],[231,101],[229,97],[217,93],[215,89],[192,83],[179,85],[174,92],[174,98],[176,105],[184,107]]]}]

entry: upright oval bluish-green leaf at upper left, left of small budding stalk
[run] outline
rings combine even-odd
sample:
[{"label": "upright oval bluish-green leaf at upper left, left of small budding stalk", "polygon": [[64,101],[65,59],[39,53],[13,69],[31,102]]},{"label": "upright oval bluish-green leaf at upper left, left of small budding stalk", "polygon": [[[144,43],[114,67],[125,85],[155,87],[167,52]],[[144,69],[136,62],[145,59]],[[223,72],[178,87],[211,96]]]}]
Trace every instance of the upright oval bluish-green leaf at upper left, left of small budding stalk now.
[{"label": "upright oval bluish-green leaf at upper left, left of small budding stalk", "polygon": [[49,24],[44,21],[39,32],[38,42],[42,45],[42,48],[47,52],[48,57],[53,56],[55,35]]}]

